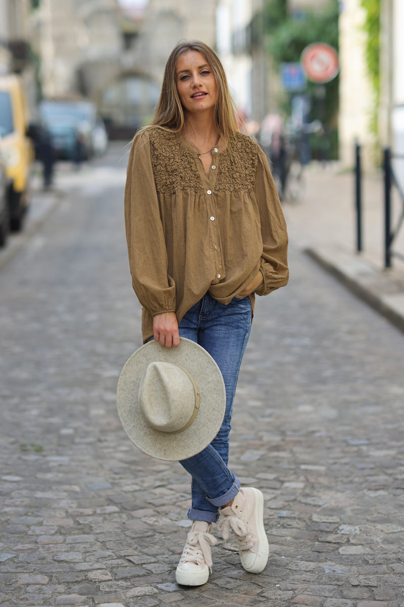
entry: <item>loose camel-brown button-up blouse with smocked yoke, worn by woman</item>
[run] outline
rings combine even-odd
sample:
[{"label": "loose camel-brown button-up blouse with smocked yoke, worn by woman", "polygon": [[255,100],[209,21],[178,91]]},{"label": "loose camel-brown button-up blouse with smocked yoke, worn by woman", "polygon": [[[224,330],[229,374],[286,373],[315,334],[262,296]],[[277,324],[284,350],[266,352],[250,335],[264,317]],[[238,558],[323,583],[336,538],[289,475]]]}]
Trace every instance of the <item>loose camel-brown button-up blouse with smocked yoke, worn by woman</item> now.
[{"label": "loose camel-brown button-up blouse with smocked yoke, worn by woman", "polygon": [[248,135],[222,151],[219,143],[207,175],[180,135],[142,131],[128,161],[125,227],[144,342],[155,314],[180,322],[207,291],[228,304],[258,271],[258,295],[288,282],[285,220],[267,157]]}]

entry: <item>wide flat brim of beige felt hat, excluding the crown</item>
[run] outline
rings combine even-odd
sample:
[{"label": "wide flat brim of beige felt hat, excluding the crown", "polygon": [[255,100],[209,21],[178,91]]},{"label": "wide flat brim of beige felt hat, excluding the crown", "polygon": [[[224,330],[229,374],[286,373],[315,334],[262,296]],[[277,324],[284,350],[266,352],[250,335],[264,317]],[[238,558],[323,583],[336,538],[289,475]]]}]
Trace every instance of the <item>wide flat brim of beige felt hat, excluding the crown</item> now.
[{"label": "wide flat brim of beige felt hat, excluding the crown", "polygon": [[[139,404],[139,384],[151,362],[171,362],[184,367],[199,390],[199,410],[190,427],[177,434],[151,427]],[[136,350],[122,369],[116,395],[118,415],[132,443],[156,459],[178,461],[204,450],[222,426],[226,391],[222,373],[200,345],[180,337],[180,344],[166,348],[156,341]]]}]

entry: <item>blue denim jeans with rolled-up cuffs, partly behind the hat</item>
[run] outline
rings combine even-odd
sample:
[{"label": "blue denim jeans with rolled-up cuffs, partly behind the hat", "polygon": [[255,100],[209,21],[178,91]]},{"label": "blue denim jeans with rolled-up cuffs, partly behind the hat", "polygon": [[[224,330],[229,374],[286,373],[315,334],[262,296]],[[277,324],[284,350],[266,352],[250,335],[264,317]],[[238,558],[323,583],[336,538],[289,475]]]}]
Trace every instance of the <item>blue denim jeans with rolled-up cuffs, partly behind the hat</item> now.
[{"label": "blue denim jeans with rolled-up cuffs, partly behind the hat", "polygon": [[192,476],[192,507],[188,510],[191,520],[215,522],[219,506],[232,500],[240,489],[240,481],[228,469],[227,462],[233,399],[251,319],[249,297],[234,297],[224,305],[206,293],[179,324],[180,337],[197,342],[216,361],[226,388],[226,411],[216,438],[197,455],[180,461]]}]

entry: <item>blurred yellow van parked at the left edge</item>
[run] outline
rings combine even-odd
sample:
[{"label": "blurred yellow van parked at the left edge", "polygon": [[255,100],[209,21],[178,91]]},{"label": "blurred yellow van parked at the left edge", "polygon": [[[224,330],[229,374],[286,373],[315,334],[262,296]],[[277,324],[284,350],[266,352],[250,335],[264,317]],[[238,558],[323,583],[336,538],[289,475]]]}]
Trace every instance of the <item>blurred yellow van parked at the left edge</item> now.
[{"label": "blurred yellow van parked at the left edge", "polygon": [[0,154],[4,158],[8,188],[10,228],[22,228],[28,207],[28,181],[34,160],[33,146],[27,137],[28,109],[21,78],[0,75]]}]

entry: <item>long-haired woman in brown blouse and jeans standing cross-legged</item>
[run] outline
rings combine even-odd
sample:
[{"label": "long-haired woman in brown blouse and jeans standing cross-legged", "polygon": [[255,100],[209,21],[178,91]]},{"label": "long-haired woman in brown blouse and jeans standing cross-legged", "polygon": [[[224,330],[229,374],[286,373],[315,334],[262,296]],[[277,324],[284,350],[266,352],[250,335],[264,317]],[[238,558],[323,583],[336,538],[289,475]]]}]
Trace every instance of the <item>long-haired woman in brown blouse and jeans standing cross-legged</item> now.
[{"label": "long-haired woman in brown blouse and jeans standing cross-legged", "polygon": [[132,144],[125,225],[144,342],[170,348],[188,337],[211,354],[226,387],[216,438],[180,462],[192,476],[193,523],[176,580],[207,582],[219,515],[242,566],[258,573],[268,559],[263,497],[240,489],[228,469],[230,421],[254,293],[288,282],[287,235],[265,154],[239,132],[224,69],[203,42],[180,42],[168,58],[151,126]]}]

